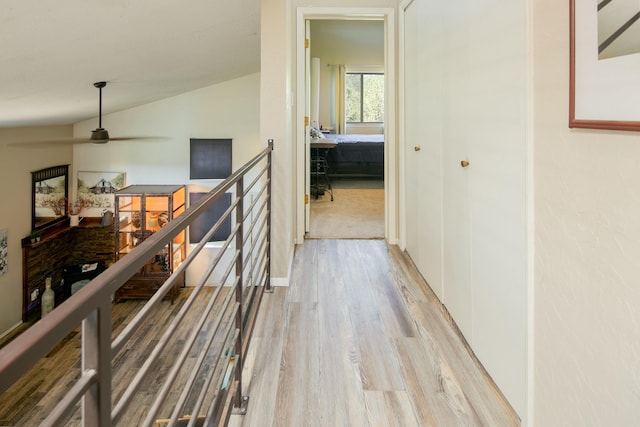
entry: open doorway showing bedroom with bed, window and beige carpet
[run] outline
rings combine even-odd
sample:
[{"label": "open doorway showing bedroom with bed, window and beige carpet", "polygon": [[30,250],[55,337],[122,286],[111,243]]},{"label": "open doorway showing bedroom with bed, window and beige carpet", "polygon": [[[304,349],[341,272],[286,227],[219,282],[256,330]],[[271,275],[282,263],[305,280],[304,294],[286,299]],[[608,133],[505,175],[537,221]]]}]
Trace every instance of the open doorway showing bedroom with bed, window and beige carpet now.
[{"label": "open doorway showing bedroom with bed, window and beige carpet", "polygon": [[308,238],[385,237],[385,23],[309,21]]}]

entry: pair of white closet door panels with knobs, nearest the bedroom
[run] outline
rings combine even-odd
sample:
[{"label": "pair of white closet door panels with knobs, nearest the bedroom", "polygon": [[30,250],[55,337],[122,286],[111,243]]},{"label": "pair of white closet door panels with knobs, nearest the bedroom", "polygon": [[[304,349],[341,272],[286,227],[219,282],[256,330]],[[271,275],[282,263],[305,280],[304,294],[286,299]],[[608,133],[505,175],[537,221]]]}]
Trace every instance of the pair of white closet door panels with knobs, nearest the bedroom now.
[{"label": "pair of white closet door panels with knobs, nearest the bedroom", "polygon": [[471,342],[468,14],[451,1],[405,10],[407,252]]}]

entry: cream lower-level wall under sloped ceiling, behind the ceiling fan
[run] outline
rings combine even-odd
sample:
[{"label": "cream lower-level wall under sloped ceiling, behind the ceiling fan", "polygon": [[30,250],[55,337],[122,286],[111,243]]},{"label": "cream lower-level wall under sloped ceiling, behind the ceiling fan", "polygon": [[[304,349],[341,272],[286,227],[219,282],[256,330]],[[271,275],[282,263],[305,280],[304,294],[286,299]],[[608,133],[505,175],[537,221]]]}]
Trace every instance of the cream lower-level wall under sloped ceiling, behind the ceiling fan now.
[{"label": "cream lower-level wall under sloped ceiling, behind the ceiling fan", "polygon": [[[266,146],[258,130],[259,87],[260,74],[251,74],[106,115],[102,126],[111,137],[166,139],[76,145],[76,170],[124,171],[127,184],[188,184],[190,138],[232,138],[237,169]],[[108,102],[108,92],[103,99]],[[74,135],[88,136],[96,127],[96,119],[77,123]]]}]

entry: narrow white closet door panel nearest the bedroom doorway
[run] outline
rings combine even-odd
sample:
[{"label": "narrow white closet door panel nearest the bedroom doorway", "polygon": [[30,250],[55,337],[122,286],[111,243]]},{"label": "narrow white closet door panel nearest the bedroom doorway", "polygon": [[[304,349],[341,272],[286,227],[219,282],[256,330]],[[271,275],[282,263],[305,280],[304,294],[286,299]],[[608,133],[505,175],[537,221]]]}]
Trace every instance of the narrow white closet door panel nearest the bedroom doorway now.
[{"label": "narrow white closet door panel nearest the bedroom doorway", "polygon": [[[442,299],[442,132],[433,31],[424,25],[427,2],[405,10],[405,183],[407,252]],[[436,5],[437,7],[437,5]]]}]

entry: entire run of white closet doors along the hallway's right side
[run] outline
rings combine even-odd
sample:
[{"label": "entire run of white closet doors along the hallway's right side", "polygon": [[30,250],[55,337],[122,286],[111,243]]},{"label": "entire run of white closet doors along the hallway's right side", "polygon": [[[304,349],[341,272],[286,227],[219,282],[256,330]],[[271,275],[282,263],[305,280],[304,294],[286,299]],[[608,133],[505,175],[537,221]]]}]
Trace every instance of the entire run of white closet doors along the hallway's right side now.
[{"label": "entire run of white closet doors along the hallway's right side", "polygon": [[[413,1],[403,15],[407,251],[521,415],[527,397],[528,55],[520,23],[526,6],[514,2],[498,15],[513,36],[504,40],[487,26],[494,11],[472,0]],[[488,39],[502,46],[491,60]],[[440,257],[435,242],[441,242]],[[432,264],[437,259],[440,269]]]}]

